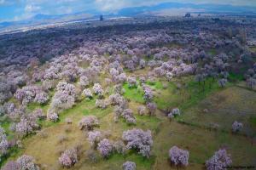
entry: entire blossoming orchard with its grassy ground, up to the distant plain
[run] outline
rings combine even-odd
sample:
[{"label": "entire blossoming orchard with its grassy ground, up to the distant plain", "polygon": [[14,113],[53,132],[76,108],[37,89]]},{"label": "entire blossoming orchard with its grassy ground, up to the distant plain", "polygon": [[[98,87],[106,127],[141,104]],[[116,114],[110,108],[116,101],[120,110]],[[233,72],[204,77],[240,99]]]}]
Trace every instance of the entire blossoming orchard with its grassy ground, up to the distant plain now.
[{"label": "entire blossoming orchard with its grassy ground, up to the distant plain", "polygon": [[[247,150],[255,150],[255,23],[228,15],[142,16],[0,33],[0,166],[48,169],[52,159],[53,168],[88,169],[92,161],[96,169],[107,162],[135,170],[150,161],[155,169],[213,170],[231,165],[227,150],[237,153],[234,162],[253,162]],[[244,96],[246,103],[237,104]],[[236,116],[219,117],[227,114]],[[208,124],[219,130],[212,134]],[[218,139],[229,130],[228,141]],[[200,141],[212,136],[227,150],[202,164],[216,142]],[[53,150],[38,154],[38,145]],[[140,156],[149,160],[136,164]]]}]

